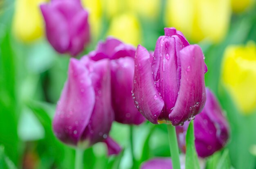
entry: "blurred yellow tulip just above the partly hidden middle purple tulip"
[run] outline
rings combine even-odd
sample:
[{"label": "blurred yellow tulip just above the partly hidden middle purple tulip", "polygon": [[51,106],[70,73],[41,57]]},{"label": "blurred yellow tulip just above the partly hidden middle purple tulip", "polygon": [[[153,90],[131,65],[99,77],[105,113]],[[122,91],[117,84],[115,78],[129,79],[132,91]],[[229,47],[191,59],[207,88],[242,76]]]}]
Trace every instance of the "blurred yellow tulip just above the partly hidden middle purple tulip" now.
[{"label": "blurred yellow tulip just above the partly hidden middle purple tulip", "polygon": [[141,40],[139,20],[133,13],[118,15],[112,19],[107,35],[137,46]]}]

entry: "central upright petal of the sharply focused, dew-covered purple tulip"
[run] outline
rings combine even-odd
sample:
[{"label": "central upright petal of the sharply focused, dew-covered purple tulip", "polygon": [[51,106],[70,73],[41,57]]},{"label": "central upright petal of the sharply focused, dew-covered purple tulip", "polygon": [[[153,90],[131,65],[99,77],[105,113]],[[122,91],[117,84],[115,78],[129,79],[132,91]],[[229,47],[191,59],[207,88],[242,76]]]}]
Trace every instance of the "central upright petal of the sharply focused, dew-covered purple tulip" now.
[{"label": "central upright petal of the sharply focused, dew-covered purple tulip", "polygon": [[175,38],[160,36],[152,61],[156,89],[164,100],[164,109],[158,118],[159,120],[169,120],[168,115],[175,105],[179,91],[175,44]]}]

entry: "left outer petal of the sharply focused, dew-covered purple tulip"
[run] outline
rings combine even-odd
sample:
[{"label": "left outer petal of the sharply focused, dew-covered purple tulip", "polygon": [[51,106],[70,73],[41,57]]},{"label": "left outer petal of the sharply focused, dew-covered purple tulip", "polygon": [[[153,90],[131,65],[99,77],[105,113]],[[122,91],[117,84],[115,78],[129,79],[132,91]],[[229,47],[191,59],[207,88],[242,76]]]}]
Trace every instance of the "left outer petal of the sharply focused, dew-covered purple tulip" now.
[{"label": "left outer petal of the sharply focused, dew-covered purple tulip", "polygon": [[133,81],[135,106],[146,119],[157,124],[158,116],[164,107],[164,100],[160,98],[154,84],[150,55],[141,45],[138,45],[135,55]]}]

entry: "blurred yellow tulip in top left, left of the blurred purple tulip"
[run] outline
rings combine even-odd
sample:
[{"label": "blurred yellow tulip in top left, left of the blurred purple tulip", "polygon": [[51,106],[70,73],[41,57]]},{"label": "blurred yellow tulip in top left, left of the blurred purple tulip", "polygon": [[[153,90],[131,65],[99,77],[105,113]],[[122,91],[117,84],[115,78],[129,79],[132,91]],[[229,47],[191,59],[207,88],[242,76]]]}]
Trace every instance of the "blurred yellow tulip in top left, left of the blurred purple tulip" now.
[{"label": "blurred yellow tulip in top left, left of the blurred purple tulip", "polygon": [[16,0],[13,16],[14,35],[31,42],[44,34],[44,22],[39,5],[47,0]]}]

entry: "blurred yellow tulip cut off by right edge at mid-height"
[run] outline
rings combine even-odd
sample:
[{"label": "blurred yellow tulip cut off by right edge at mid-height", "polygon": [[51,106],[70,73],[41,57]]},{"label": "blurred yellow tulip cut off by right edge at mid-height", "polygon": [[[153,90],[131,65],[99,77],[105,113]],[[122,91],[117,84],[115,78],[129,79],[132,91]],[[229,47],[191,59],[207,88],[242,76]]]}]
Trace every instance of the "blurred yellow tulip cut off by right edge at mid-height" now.
[{"label": "blurred yellow tulip cut off by right edge at mid-height", "polygon": [[222,62],[222,82],[244,113],[256,109],[256,44],[229,46]]}]

